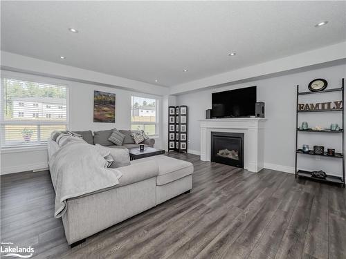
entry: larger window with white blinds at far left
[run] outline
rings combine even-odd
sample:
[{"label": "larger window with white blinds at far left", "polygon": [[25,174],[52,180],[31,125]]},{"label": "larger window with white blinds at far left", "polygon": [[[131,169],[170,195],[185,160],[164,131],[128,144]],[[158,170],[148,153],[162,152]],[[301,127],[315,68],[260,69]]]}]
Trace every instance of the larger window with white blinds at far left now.
[{"label": "larger window with white blinds at far left", "polygon": [[66,86],[1,79],[1,148],[44,144],[52,131],[66,130],[67,91]]}]

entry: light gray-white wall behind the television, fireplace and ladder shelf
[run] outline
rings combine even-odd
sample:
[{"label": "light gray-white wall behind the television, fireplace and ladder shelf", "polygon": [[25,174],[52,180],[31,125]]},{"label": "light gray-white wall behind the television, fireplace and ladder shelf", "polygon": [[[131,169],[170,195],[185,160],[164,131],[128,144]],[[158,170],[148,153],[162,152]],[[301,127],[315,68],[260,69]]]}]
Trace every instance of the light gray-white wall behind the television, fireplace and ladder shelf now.
[{"label": "light gray-white wall behind the television, fireplace and ladder shelf", "polygon": [[[312,79],[325,78],[328,81],[328,88],[338,88],[341,86],[341,79],[346,75],[346,65],[332,66],[318,70],[310,70],[304,73],[295,73],[237,84],[224,86],[211,90],[202,90],[196,93],[178,95],[177,105],[186,104],[189,107],[189,144],[190,153],[200,151],[200,128],[198,119],[205,118],[206,109],[211,108],[212,93],[235,88],[257,86],[257,101],[266,104],[266,130],[264,139],[264,161],[267,168],[281,171],[293,172],[295,158],[295,93],[296,86],[299,84],[301,90],[306,91],[307,85]],[[323,93],[320,95],[306,95],[310,100],[340,100],[340,93]],[[301,99],[303,102],[303,99]],[[320,125],[329,127],[331,123],[341,125],[340,113],[307,113],[300,117],[302,121],[309,122],[310,126]],[[329,148],[335,148],[336,152],[341,150],[341,137],[322,133],[300,133],[300,145],[322,144]],[[302,155],[300,155],[302,157]],[[317,157],[319,158],[319,157]],[[316,157],[304,155],[300,159],[302,169],[322,169],[331,174],[340,175],[341,162],[331,163],[336,158],[320,157],[321,161],[316,161]]]}]

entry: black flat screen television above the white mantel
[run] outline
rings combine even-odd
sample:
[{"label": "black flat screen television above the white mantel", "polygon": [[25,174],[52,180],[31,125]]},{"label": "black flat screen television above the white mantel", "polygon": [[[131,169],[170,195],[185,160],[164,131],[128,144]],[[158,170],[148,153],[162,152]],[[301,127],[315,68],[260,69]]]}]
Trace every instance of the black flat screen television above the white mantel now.
[{"label": "black flat screen television above the white mantel", "polygon": [[257,86],[212,93],[212,117],[255,116]]}]

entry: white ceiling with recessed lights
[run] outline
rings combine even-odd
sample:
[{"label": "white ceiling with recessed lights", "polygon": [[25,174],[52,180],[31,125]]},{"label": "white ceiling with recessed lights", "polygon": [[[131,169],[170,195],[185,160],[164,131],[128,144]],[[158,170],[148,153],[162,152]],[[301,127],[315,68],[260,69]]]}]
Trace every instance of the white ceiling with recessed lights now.
[{"label": "white ceiling with recessed lights", "polygon": [[1,50],[175,86],[345,41],[345,12],[346,1],[1,1]]}]

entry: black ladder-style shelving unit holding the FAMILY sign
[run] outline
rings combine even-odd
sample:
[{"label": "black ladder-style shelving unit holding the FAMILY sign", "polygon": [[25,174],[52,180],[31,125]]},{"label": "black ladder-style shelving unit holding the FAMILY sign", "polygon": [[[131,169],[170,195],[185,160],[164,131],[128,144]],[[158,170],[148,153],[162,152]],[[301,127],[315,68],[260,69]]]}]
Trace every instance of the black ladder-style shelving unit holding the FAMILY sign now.
[{"label": "black ladder-style shelving unit holding the FAMILY sign", "polygon": [[[345,155],[343,154],[343,151],[345,150],[345,132],[344,132],[344,79],[342,80],[342,86],[340,88],[333,88],[328,90],[323,90],[321,92],[299,92],[299,85],[297,86],[297,106],[296,106],[296,117],[295,117],[295,178],[302,177],[307,179],[316,180],[319,182],[329,182],[333,184],[340,184],[343,187],[345,187]],[[300,95],[314,95],[314,94],[321,94],[321,93],[331,93],[331,92],[341,92],[342,94],[342,101],[343,101],[343,108],[340,109],[329,109],[329,110],[313,110],[313,111],[299,111],[298,110],[298,104],[299,104],[299,96]],[[300,113],[330,113],[330,112],[340,112],[343,116],[342,118],[342,128],[340,131],[331,131],[328,128],[324,128],[320,131],[313,130],[312,128],[309,128],[307,130],[301,130],[298,128],[298,115]],[[323,157],[331,157],[331,158],[338,158],[336,161],[341,160],[343,162],[343,176],[338,177],[334,175],[327,175],[327,178],[321,179],[321,178],[313,178],[312,172],[310,171],[304,171],[304,170],[298,170],[298,154],[304,154],[304,155],[318,155],[314,154],[313,151],[309,151],[309,153],[304,153],[302,149],[298,148],[298,133],[305,132],[305,133],[339,133],[342,138],[342,153],[335,153],[334,156],[327,155],[327,153],[320,154],[320,156]]]}]

